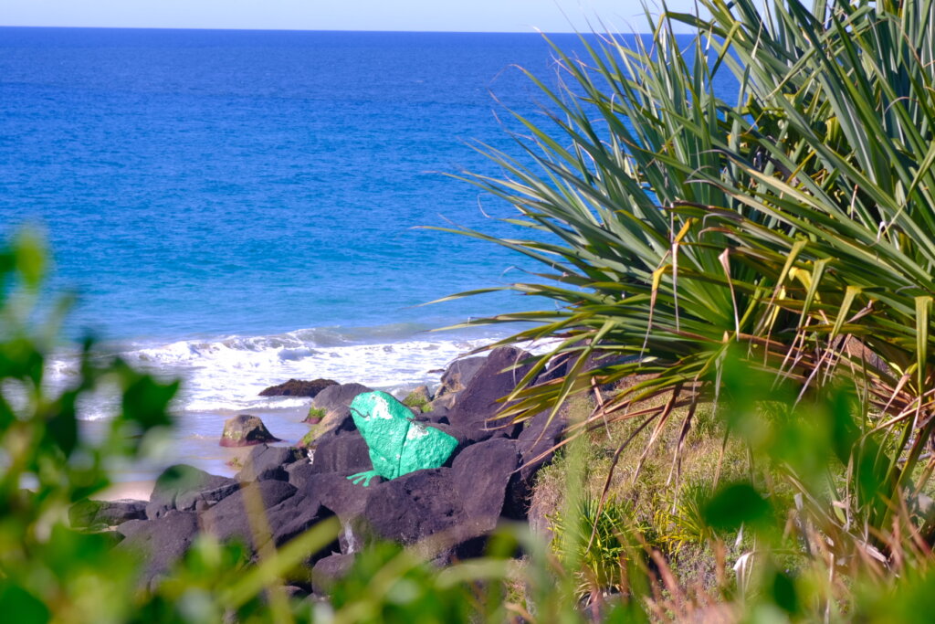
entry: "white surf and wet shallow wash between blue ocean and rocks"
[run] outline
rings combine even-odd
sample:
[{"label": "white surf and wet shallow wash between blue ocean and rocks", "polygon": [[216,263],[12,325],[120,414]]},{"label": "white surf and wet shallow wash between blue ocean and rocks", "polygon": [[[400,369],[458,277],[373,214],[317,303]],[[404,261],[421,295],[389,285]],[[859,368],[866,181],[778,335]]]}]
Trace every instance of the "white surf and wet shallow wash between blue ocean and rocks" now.
[{"label": "white surf and wet shallow wash between blue ocean and rocks", "polygon": [[[320,334],[309,330],[277,337],[151,343],[119,351],[117,355],[137,368],[164,379],[180,379],[182,386],[172,407],[174,430],[153,447],[150,459],[115,466],[117,478],[151,480],[178,461],[214,474],[233,474],[237,468],[232,462],[249,449],[220,446],[226,419],[237,414],[259,416],[284,444],[297,443],[309,431],[302,421],[311,399],[259,396],[267,386],[324,377],[368,385],[402,399],[417,385],[438,385],[441,370],[494,338],[477,331],[440,332],[420,333],[410,340],[338,344],[333,332],[328,334],[332,340],[316,342],[314,337]],[[59,356],[50,368],[50,385],[69,385],[76,369],[73,356]],[[108,417],[119,409],[117,401],[115,392],[105,390],[81,406],[84,428],[92,437],[102,435]]]}]

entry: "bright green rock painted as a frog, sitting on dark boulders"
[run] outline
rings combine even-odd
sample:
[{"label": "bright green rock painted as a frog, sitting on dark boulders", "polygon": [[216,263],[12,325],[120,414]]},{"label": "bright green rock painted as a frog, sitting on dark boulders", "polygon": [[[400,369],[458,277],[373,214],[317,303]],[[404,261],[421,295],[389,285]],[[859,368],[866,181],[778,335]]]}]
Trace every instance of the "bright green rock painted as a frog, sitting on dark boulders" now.
[{"label": "bright green rock painted as a frog, sitting on dark boulders", "polygon": [[410,409],[385,392],[365,392],[351,402],[354,425],[360,430],[373,470],[348,477],[354,484],[370,485],[381,476],[396,479],[425,468],[439,468],[451,457],[458,442],[444,431],[412,420]]}]

